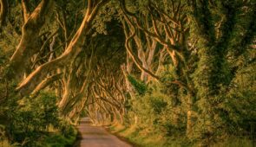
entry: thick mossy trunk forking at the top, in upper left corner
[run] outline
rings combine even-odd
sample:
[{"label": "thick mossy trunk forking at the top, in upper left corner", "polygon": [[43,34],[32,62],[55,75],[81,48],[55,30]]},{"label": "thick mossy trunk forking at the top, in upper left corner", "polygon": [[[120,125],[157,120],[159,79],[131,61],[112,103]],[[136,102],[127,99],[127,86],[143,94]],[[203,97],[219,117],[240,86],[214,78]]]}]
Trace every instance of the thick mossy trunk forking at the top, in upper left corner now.
[{"label": "thick mossy trunk forking at the top, in upper left corner", "polygon": [[[23,5],[26,5],[23,0]],[[23,6],[24,24],[21,41],[16,47],[15,53],[10,58],[10,67],[15,73],[16,80],[22,80],[25,70],[30,65],[30,58],[36,54],[40,48],[36,47],[37,37],[40,29],[49,17],[53,0],[42,0],[36,9],[29,14],[27,6]]]}]

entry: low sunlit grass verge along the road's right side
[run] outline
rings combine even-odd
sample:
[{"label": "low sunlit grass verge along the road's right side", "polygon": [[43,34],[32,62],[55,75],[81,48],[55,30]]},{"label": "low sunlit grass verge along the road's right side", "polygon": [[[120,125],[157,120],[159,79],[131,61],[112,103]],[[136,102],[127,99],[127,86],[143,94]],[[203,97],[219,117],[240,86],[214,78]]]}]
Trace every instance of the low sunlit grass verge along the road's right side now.
[{"label": "low sunlit grass verge along the road's right side", "polygon": [[[119,137],[124,137],[136,147],[198,147],[199,142],[191,142],[184,136],[165,136],[161,133],[147,132],[135,126],[111,125],[109,130]],[[220,142],[209,144],[213,147],[253,147],[249,137],[224,137]]]}]

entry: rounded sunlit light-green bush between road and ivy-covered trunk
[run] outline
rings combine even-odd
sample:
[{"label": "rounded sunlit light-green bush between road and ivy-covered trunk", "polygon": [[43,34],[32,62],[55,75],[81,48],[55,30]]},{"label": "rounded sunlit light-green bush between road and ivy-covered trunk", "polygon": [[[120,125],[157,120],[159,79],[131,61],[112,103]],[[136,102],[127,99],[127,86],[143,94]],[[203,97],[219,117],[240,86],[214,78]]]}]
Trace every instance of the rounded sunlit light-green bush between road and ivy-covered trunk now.
[{"label": "rounded sunlit light-green bush between road and ivy-covered trunk", "polygon": [[138,127],[148,132],[158,132],[162,135],[181,131],[184,122],[181,118],[181,107],[174,106],[172,99],[161,90],[154,90],[144,96],[132,100],[132,110],[139,119]]}]

